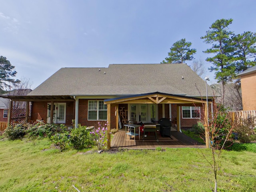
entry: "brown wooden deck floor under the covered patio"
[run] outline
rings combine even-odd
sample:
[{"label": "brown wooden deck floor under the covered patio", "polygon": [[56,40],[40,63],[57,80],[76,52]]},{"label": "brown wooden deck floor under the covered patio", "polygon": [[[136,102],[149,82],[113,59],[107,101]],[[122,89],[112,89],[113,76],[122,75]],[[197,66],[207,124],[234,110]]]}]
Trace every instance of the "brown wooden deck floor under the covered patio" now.
[{"label": "brown wooden deck floor under the covered patio", "polygon": [[158,141],[154,138],[154,135],[148,136],[142,139],[142,135],[136,136],[136,142],[134,137],[130,139],[130,136],[126,134],[125,129],[119,129],[114,134],[114,138],[111,140],[111,148],[128,148],[128,149],[155,149],[161,148],[206,148],[205,144],[200,144],[192,138],[182,134],[178,131],[171,132],[172,138],[163,138],[158,135]]}]

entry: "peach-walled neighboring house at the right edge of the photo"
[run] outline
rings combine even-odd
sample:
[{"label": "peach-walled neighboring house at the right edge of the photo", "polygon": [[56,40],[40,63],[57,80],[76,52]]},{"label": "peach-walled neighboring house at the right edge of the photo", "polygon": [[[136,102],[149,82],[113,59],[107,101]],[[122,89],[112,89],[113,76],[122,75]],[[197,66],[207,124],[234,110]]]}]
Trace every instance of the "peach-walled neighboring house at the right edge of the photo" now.
[{"label": "peach-walled neighboring house at the right edge of the photo", "polygon": [[238,74],[241,78],[243,110],[256,110],[256,66]]}]

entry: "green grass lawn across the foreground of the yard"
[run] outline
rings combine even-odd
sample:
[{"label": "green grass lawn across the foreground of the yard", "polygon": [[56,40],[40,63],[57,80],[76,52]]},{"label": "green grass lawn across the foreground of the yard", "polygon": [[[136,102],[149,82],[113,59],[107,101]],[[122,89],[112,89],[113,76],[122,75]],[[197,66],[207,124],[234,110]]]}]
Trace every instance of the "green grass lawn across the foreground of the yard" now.
[{"label": "green grass lawn across the foreground of the yard", "polygon": [[[0,140],[0,191],[211,192],[208,149],[60,152],[48,139]],[[224,151],[218,191],[256,191],[256,153]]]}]

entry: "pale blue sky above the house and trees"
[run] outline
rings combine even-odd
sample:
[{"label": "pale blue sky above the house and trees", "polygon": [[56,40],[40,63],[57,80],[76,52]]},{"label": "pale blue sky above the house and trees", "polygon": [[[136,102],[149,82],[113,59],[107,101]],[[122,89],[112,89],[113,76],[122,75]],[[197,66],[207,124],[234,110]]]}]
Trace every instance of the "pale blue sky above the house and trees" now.
[{"label": "pale blue sky above the house and trees", "polygon": [[[229,29],[236,34],[256,32],[255,0],[0,0],[0,5],[0,55],[32,88],[62,67],[160,63],[182,38],[197,49],[196,60],[205,60],[203,51],[211,45],[200,37],[218,19],[232,18]],[[206,68],[211,65],[205,61]],[[214,82],[214,74],[207,74]]]}]

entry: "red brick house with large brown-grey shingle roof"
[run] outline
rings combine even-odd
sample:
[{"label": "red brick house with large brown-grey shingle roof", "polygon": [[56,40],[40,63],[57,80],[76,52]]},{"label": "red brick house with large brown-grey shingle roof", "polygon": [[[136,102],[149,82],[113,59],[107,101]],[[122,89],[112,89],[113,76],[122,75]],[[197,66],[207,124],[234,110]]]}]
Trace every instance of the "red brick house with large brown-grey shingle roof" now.
[{"label": "red brick house with large brown-grey shingle roof", "polygon": [[[213,92],[208,86],[208,100]],[[107,121],[175,120],[177,129],[192,127],[206,111],[206,83],[186,64],[110,64],[108,68],[61,68],[27,96],[30,119],[47,123],[97,126]]]}]

